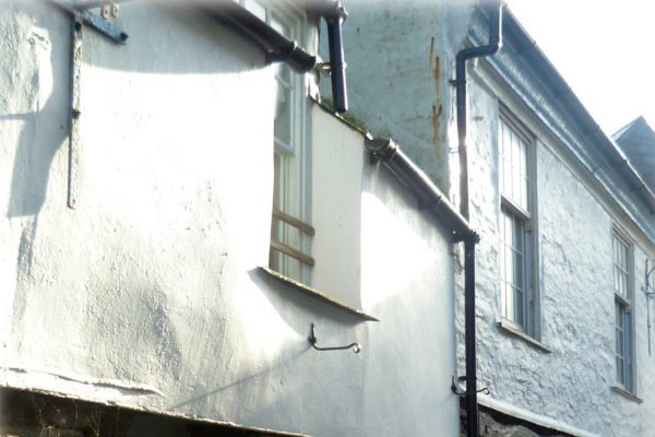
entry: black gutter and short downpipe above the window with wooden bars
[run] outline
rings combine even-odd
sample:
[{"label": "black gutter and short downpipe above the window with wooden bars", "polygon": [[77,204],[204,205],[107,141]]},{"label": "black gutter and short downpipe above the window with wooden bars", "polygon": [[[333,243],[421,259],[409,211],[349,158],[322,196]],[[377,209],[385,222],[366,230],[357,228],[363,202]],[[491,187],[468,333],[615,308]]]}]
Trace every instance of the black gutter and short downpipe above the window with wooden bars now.
[{"label": "black gutter and short downpipe above the window with wooden bars", "polygon": [[[306,73],[318,66],[315,56],[263,22],[260,17],[235,1],[203,2],[201,9],[212,19],[223,23],[264,51],[266,63],[285,62],[298,73]],[[346,88],[346,62],[342,40],[342,24],[347,12],[336,0],[323,0],[310,7],[310,12],[322,16],[327,24],[332,99],[337,113],[348,110]],[[322,66],[325,67],[325,66]]]}]

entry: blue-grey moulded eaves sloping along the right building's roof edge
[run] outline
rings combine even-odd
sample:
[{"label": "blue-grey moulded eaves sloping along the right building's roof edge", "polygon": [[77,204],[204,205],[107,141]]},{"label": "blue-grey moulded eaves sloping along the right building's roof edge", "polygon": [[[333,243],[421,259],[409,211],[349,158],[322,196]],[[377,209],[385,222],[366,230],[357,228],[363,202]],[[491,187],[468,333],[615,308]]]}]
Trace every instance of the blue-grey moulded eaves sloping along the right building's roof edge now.
[{"label": "blue-grey moulded eaves sloping along the right building's roof edge", "polygon": [[[468,43],[484,44],[487,27],[484,12],[476,10]],[[507,8],[503,48],[486,62],[655,244],[655,193]]]}]

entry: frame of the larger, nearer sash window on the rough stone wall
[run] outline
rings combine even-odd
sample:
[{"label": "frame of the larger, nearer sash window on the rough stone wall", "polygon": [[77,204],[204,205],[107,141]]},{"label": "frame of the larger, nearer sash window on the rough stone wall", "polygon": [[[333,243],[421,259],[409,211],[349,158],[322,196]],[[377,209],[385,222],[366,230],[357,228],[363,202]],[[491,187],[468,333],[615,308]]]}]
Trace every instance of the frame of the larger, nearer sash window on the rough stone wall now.
[{"label": "frame of the larger, nearer sash window on the rough stone wall", "polygon": [[[505,158],[503,155],[502,129],[511,129],[525,145],[525,205],[520,204],[511,194],[503,192],[503,178],[505,177]],[[540,341],[540,293],[538,281],[538,232],[537,232],[537,191],[536,191],[536,137],[523,125],[519,118],[504,105],[499,105],[498,116],[498,191],[499,205],[499,308],[502,323],[524,334]],[[505,217],[519,221],[522,224],[522,262],[521,277],[523,280],[522,319],[516,320],[515,314],[508,311],[507,287],[514,287],[513,281],[509,282],[505,275]],[[512,227],[514,229],[514,227]],[[513,248],[510,248],[513,250]]]}]

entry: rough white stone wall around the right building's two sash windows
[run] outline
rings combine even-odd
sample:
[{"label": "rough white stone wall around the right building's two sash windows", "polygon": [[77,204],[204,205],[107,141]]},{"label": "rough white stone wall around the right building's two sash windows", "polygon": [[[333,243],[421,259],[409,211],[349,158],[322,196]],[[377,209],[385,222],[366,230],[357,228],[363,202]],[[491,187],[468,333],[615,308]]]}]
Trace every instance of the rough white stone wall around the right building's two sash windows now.
[{"label": "rough white stone wall around the right building's two sash windows", "polygon": [[[562,158],[561,147],[511,97],[489,92],[479,76],[469,85],[472,225],[480,232],[477,251],[478,381],[490,399],[599,436],[650,435],[640,412],[647,402],[611,391],[616,385],[612,226],[634,241],[635,350],[640,397],[648,397],[652,358],[647,355],[644,250],[652,245],[590,188],[590,181]],[[498,327],[500,234],[498,217],[498,105],[535,133],[538,216],[538,286],[545,352]],[[491,189],[490,189],[491,188]],[[462,303],[460,303],[462,304]],[[463,319],[458,338],[463,338]],[[483,397],[481,402],[485,402]],[[492,405],[492,402],[491,402]]]}]

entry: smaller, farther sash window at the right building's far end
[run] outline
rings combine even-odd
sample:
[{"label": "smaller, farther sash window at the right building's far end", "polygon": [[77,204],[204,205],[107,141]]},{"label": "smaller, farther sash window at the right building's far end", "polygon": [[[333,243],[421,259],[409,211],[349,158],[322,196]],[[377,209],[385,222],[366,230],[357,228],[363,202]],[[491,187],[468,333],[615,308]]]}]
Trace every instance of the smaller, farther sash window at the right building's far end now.
[{"label": "smaller, farther sash window at the right building's far end", "polygon": [[612,290],[615,300],[616,383],[635,393],[634,354],[634,244],[618,228],[611,234]]}]

